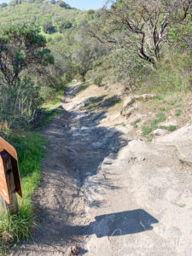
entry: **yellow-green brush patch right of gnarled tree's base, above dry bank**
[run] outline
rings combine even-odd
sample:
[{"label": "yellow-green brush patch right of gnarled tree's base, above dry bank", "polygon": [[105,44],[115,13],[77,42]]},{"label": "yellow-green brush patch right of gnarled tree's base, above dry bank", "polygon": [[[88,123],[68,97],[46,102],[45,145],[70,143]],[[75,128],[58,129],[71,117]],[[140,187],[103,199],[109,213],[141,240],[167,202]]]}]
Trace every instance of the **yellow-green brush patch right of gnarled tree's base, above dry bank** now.
[{"label": "yellow-green brush patch right of gnarled tree's base, above dry bank", "polygon": [[143,75],[137,84],[141,92],[173,93],[192,90],[192,53],[185,49],[182,52],[174,49],[158,64],[157,68]]}]

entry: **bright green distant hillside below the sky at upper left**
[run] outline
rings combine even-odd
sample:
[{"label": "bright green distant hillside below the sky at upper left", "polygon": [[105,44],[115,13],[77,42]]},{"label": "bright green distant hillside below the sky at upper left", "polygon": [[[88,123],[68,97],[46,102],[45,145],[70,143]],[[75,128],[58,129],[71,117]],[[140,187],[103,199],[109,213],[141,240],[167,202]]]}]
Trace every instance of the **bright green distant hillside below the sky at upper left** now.
[{"label": "bright green distant hillside below the sky at upper left", "polygon": [[[63,2],[64,3],[64,2]],[[62,7],[61,4],[51,4],[47,1],[23,2],[15,6],[9,3],[6,8],[0,9],[0,24],[13,22],[15,24],[28,23],[40,26],[43,31],[44,23],[50,22],[55,31],[62,33],[60,26],[65,21],[74,27],[83,19],[84,11],[73,9],[70,6]],[[69,27],[70,28],[70,27]]]}]

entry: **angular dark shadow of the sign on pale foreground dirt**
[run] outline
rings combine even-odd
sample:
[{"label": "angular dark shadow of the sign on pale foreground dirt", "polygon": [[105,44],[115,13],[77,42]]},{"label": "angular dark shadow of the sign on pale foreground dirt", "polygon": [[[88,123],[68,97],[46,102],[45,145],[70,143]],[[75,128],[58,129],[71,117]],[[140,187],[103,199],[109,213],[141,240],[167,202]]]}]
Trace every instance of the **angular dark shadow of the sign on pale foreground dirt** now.
[{"label": "angular dark shadow of the sign on pale foreground dirt", "polygon": [[[152,224],[159,221],[143,209],[137,209],[125,212],[114,212],[101,216],[96,216],[96,221],[86,226],[71,226],[70,236],[90,236],[95,234],[96,237],[104,236],[125,236],[153,230]],[[77,232],[77,230],[81,230]]]}]

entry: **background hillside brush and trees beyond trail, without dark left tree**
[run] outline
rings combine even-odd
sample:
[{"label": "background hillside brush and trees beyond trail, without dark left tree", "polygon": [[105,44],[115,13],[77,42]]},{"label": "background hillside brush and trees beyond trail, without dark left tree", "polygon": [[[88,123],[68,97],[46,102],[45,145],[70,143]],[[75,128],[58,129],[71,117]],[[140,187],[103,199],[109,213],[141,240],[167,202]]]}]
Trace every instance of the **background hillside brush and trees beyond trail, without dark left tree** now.
[{"label": "background hillside brush and trees beyond trail, without dark left tree", "polygon": [[191,90],[191,1],[108,1],[81,11],[62,1],[11,1],[0,24],[38,26],[55,64],[35,78],[43,100],[72,79],[127,90]]}]

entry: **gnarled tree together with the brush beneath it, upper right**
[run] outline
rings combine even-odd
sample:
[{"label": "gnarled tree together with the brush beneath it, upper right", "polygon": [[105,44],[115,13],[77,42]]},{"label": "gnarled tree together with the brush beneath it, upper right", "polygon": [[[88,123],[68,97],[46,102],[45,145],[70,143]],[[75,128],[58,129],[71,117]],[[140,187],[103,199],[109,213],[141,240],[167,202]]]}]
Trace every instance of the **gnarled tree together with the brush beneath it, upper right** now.
[{"label": "gnarled tree together with the brush beneath it, upper right", "polygon": [[108,3],[111,9],[97,11],[90,20],[90,36],[109,49],[96,69],[105,69],[129,90],[188,90],[191,62],[182,60],[191,55],[192,1]]}]

